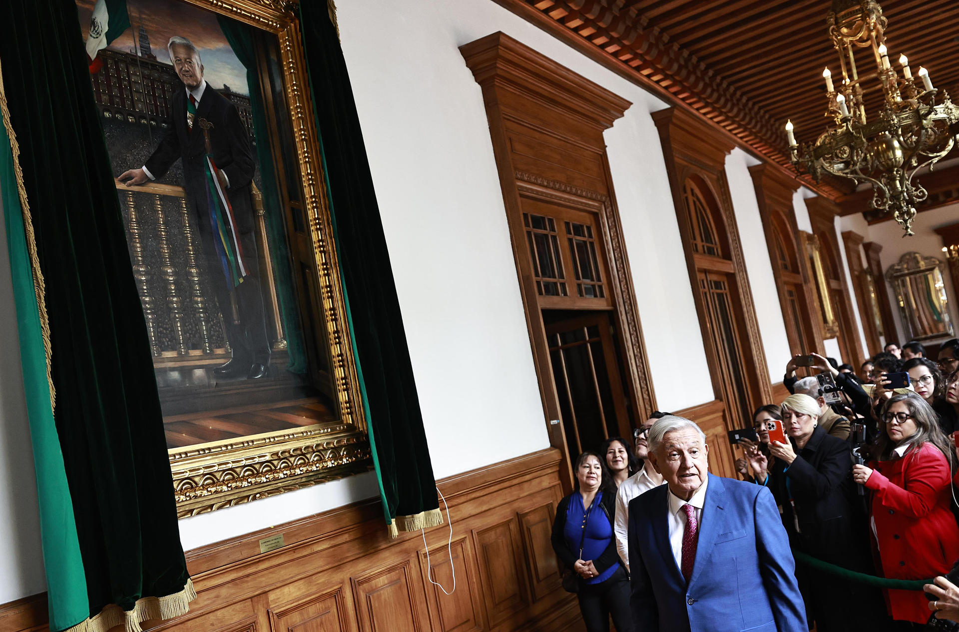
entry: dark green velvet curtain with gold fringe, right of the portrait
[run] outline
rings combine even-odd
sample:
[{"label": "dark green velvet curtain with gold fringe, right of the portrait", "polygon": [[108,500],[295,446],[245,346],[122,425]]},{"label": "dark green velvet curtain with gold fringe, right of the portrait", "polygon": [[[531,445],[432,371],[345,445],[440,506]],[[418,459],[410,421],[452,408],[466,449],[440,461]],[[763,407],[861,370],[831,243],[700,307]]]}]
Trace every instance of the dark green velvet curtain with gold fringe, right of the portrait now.
[{"label": "dark green velvet curtain with gold fringe, right of the portrait", "polygon": [[442,522],[363,131],[324,2],[300,3],[316,126],[373,460],[391,532]]}]

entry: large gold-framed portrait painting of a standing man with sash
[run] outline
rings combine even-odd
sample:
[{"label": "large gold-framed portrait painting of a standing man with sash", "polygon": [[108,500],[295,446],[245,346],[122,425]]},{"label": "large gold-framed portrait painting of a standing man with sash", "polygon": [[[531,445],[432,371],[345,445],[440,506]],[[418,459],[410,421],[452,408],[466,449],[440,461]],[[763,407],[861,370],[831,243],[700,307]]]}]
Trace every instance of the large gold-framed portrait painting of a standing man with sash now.
[{"label": "large gold-framed portrait painting of a standing man with sash", "polygon": [[77,6],[180,516],[368,469],[294,9]]}]

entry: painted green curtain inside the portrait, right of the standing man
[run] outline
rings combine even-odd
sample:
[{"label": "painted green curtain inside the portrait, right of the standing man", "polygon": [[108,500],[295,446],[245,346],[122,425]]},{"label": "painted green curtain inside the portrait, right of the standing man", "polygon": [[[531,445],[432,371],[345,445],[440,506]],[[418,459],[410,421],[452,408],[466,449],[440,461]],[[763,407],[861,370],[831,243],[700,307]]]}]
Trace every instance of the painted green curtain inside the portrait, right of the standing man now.
[{"label": "painted green curtain inside the portrait, right of the standing man", "polygon": [[264,217],[267,222],[269,250],[272,253],[273,279],[276,282],[276,297],[280,305],[280,316],[287,336],[287,350],[290,363],[287,368],[293,373],[306,373],[307,359],[303,348],[303,332],[300,328],[296,297],[293,294],[292,270],[289,262],[286,225],[283,203],[280,200],[279,187],[276,184],[276,170],[273,157],[269,152],[269,128],[264,113],[263,92],[260,75],[256,72],[256,47],[253,43],[252,28],[242,22],[217,16],[220,29],[226,36],[233,53],[246,67],[246,85],[249,90],[249,104],[253,110],[253,129],[256,133],[256,158],[263,180]]}]

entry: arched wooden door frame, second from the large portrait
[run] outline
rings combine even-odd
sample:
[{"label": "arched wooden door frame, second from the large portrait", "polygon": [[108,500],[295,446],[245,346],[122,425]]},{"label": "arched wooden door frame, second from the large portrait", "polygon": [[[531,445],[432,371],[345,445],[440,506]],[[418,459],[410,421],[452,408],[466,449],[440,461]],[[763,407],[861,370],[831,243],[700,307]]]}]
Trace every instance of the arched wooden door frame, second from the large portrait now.
[{"label": "arched wooden door frame, second from the large portrait", "polygon": [[[690,287],[693,289],[693,300],[696,305],[696,314],[699,316],[699,328],[703,334],[703,346],[706,353],[706,362],[709,365],[713,378],[713,392],[717,398],[724,391],[724,386],[717,384],[719,358],[713,343],[708,339],[709,331],[707,307],[704,304],[702,293],[699,291],[698,266],[696,254],[692,250],[692,230],[686,206],[683,202],[683,185],[691,176],[699,176],[708,186],[709,193],[718,206],[717,221],[723,222],[723,229],[729,246],[732,260],[732,274],[736,279],[736,304],[733,305],[739,332],[746,338],[742,345],[740,366],[753,367],[746,372],[745,386],[746,399],[755,410],[763,404],[772,401],[772,385],[769,382],[769,371],[766,365],[765,350],[762,348],[759,321],[756,317],[753,294],[749,286],[745,260],[742,255],[742,246],[739,241],[736,215],[733,209],[733,199],[729,192],[729,182],[726,179],[726,154],[734,149],[733,143],[705,125],[689,112],[676,107],[653,112],[653,121],[659,129],[666,157],[669,187],[672,190],[674,212],[679,223],[679,231],[683,240],[683,250],[686,254],[687,271],[690,276]],[[728,406],[727,402],[727,406]],[[752,410],[748,411],[752,412]],[[728,423],[740,423],[741,420],[732,420],[727,416]],[[732,430],[732,429],[730,429]]]}]

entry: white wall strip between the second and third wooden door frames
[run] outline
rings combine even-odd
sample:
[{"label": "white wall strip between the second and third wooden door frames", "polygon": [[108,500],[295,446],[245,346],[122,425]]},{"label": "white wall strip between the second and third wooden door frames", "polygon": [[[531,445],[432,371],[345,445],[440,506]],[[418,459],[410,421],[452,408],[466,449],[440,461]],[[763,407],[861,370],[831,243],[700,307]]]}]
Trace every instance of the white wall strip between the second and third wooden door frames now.
[{"label": "white wall strip between the second and third wooden door frames", "polygon": [[760,337],[766,357],[770,382],[783,381],[783,367],[792,357],[789,339],[785,333],[783,308],[780,306],[776,278],[770,266],[769,248],[762,229],[760,206],[749,167],[760,161],[752,155],[735,149],[726,156],[726,179],[729,181],[742,258],[749,274],[749,288],[756,305],[756,319],[760,323]]}]

